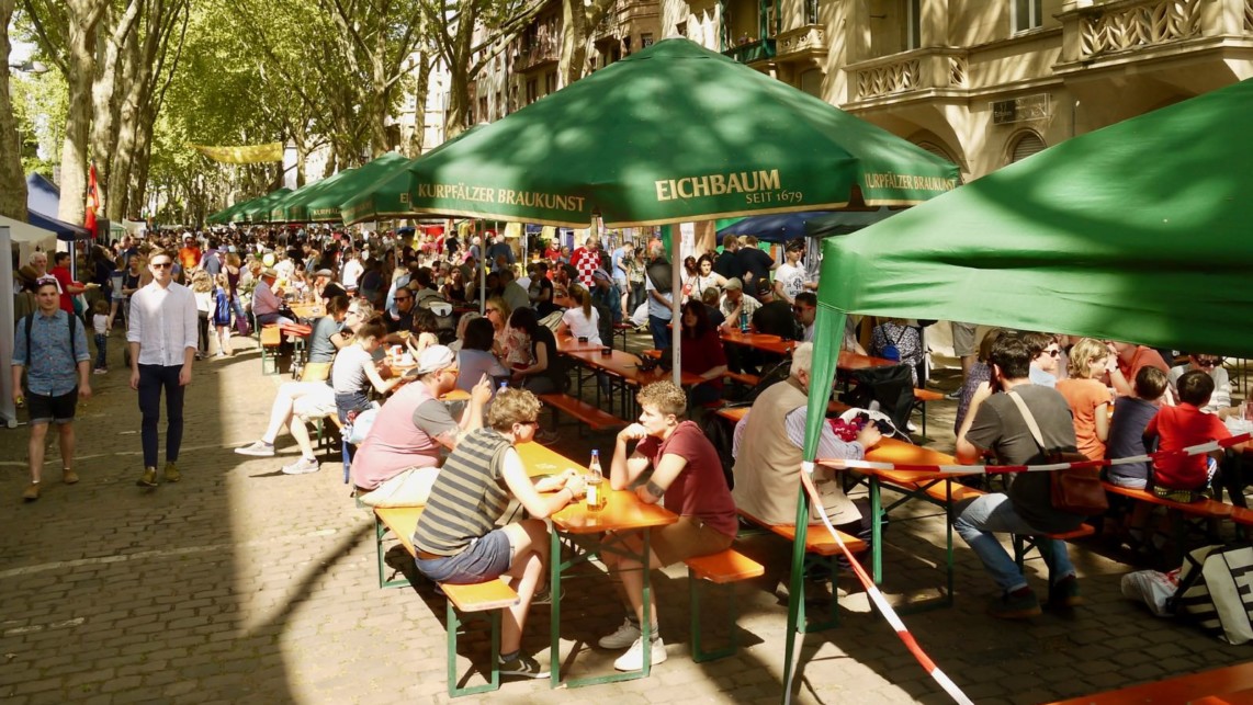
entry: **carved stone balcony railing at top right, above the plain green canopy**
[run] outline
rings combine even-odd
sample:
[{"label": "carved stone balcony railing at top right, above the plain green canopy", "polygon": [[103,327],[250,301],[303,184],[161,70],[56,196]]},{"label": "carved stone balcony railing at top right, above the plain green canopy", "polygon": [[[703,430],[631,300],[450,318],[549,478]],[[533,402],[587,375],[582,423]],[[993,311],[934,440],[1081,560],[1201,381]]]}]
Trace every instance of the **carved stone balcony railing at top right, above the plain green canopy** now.
[{"label": "carved stone balcony railing at top right, above the plain green canopy", "polygon": [[[1148,0],[1085,8],[1079,19],[1083,59],[1200,36],[1202,0]],[[1245,31],[1250,4],[1244,4]]]}]

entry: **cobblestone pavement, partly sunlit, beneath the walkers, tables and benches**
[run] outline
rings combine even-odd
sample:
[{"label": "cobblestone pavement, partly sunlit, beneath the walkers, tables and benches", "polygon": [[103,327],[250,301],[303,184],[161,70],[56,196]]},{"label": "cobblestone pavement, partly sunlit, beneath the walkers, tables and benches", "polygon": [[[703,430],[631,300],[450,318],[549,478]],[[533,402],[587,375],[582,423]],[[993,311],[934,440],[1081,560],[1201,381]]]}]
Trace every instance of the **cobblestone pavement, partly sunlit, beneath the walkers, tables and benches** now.
[{"label": "cobblestone pavement, partly sunlit, beneath the walkers, tables and benches", "polygon": [[[93,377],[81,408],[76,486],[49,472],[44,497],[23,503],[24,428],[0,433],[0,701],[38,702],[431,702],[446,700],[444,604],[427,586],[380,590],[372,522],[356,508],[341,465],[284,476],[276,458],[231,448],[262,431],[286,377],[263,377],[256,352],[198,363],[187,403],[183,481],[147,491],[139,412],[120,366]],[[947,404],[951,407],[951,403]],[[933,435],[951,408],[932,404]],[[608,436],[565,433],[581,458]],[[951,433],[936,447],[951,450]],[[55,448],[49,467],[59,462]],[[942,521],[893,522],[885,589],[897,602],[933,599],[944,581]],[[687,579],[655,580],[670,659],[647,680],[549,690],[505,682],[464,701],[777,702],[786,601],[776,595],[787,547],[749,540],[767,577],[742,584],[738,655],[693,664]],[[956,604],[905,617],[920,644],[977,702],[1042,702],[1228,665],[1248,657],[1190,627],[1158,620],[1119,595],[1131,570],[1099,541],[1074,548],[1086,606],[1006,625],[982,614],[992,592],[957,540]],[[388,555],[402,565],[397,548]],[[1041,586],[1040,561],[1030,572]],[[850,575],[838,579],[840,627],[803,637],[798,702],[944,702]],[[821,602],[821,595],[813,595]],[[568,584],[563,660],[605,672],[616,654],[589,647],[621,620],[603,576]],[[548,660],[548,607],[535,607],[524,646]],[[459,666],[481,665],[486,641],[465,640]],[[470,676],[475,682],[477,671]]]}]

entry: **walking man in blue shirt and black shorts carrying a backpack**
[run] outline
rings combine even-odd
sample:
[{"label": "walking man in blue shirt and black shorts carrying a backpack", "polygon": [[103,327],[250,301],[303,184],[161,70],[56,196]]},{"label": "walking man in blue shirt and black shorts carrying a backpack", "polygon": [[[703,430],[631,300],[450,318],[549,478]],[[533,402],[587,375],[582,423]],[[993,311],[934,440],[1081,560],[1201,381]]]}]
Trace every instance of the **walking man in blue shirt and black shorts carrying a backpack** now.
[{"label": "walking man in blue shirt and black shorts carrying a backpack", "polygon": [[[36,280],[36,309],[18,324],[13,348],[13,397],[19,407],[30,399],[30,442],[26,462],[30,485],[23,500],[39,498],[48,425],[56,423],[61,448],[61,481],[78,482],[74,472],[74,411],[79,398],[91,396],[91,353],[78,316],[60,308],[61,289],[51,275]],[[26,373],[26,392],[21,376]]]}]

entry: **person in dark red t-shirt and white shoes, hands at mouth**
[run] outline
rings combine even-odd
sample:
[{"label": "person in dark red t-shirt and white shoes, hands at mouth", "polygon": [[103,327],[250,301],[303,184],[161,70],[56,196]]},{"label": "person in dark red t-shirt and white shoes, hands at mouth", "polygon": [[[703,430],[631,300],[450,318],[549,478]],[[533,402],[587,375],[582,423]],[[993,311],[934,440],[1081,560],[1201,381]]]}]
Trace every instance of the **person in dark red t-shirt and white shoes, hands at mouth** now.
[{"label": "person in dark red t-shirt and white shoes, hands at mouth", "polygon": [[[639,392],[637,401],[642,409],[639,422],[618,433],[609,483],[614,490],[626,490],[652,466],[652,477],[634,490],[635,496],[648,505],[664,497],[665,508],[679,515],[672,525],[647,530],[650,543],[648,567],[663,569],[690,557],[725,551],[736,540],[736,502],[727,488],[718,451],[699,426],[683,419],[687,407],[683,389],[673,382],[654,382]],[[628,455],[626,443],[632,441],[637,441],[635,450]],[[624,533],[621,547],[643,553],[643,535],[639,531]],[[610,570],[616,570],[618,586],[629,610],[626,621],[618,631],[601,639],[599,645],[601,649],[630,646],[614,661],[614,667],[620,671],[639,670],[644,664],[640,630],[644,619],[643,565],[638,558],[608,551],[600,558]],[[657,625],[655,590],[650,592],[650,661],[655,666],[665,660],[665,644]]]}]

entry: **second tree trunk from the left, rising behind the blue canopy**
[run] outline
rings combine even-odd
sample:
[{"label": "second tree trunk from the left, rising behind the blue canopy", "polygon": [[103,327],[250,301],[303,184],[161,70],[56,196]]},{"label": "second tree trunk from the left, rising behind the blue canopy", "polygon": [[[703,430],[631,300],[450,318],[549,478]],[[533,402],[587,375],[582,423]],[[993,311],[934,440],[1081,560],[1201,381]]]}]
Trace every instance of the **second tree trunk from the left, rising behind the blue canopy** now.
[{"label": "second tree trunk from the left, rising behind the blue canopy", "polygon": [[65,139],[61,143],[61,204],[56,217],[75,225],[83,223],[83,214],[86,210],[86,148],[91,131],[95,33],[105,5],[104,0],[66,3],[70,10],[65,76],[69,109],[65,116]]}]

